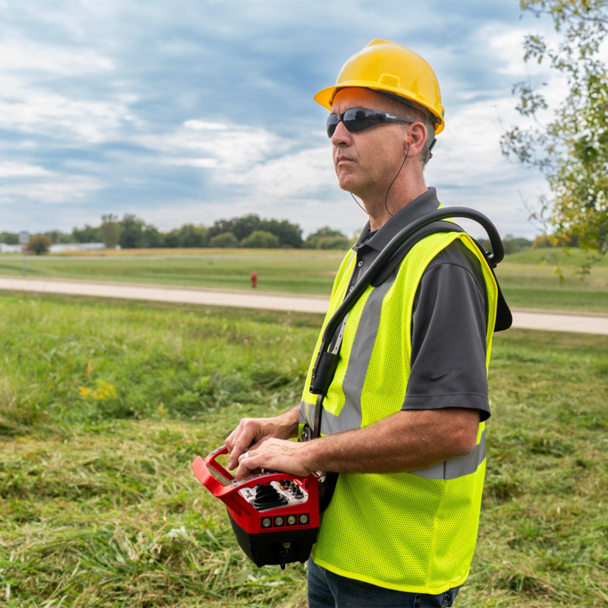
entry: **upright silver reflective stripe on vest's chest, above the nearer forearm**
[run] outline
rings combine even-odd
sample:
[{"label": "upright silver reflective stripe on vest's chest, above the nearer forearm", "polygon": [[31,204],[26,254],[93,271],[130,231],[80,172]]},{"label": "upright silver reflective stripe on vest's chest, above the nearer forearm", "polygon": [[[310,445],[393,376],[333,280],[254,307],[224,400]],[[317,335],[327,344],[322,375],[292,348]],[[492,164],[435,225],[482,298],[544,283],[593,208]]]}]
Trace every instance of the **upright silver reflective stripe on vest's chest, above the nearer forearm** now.
[{"label": "upright silver reflective stripe on vest's chest, above the nearer forearm", "polygon": [[353,347],[348,357],[348,368],[342,382],[345,402],[339,415],[334,415],[323,409],[321,413],[321,433],[331,435],[344,430],[361,427],[361,392],[365,374],[370,365],[371,351],[376,343],[376,335],[380,326],[382,300],[395,282],[398,268],[385,280],[382,285],[371,290],[363,307],[357,333],[354,336]]}]

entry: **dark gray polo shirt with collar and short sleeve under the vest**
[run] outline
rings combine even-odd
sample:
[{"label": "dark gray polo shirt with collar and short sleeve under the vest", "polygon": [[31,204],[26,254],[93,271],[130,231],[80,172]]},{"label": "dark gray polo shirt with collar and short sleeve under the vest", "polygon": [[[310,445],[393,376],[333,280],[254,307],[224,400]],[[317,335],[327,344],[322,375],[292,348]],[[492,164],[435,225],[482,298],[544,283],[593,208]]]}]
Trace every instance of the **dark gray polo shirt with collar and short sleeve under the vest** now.
[{"label": "dark gray polo shirt with collar and short sleeve under the vest", "polygon": [[[437,190],[423,195],[370,232],[364,227],[353,250],[357,263],[350,286],[379,252],[414,219],[439,207]],[[412,355],[401,409],[472,407],[490,416],[486,374],[488,297],[479,260],[460,240],[430,261],[416,290],[412,311]]]}]

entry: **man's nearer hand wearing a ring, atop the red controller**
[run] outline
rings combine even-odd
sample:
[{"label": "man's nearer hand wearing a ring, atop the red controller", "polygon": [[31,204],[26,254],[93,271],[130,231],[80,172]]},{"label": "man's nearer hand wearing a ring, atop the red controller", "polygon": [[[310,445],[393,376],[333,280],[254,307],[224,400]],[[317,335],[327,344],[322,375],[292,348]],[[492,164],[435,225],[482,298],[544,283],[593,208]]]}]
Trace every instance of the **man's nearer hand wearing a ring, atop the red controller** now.
[{"label": "man's nearer hand wearing a ring, atop the red controller", "polygon": [[238,469],[235,477],[238,480],[247,477],[259,469],[281,471],[292,475],[310,475],[313,471],[307,466],[308,441],[295,443],[282,439],[269,439],[256,449],[249,449],[249,458],[241,454],[238,458]]}]

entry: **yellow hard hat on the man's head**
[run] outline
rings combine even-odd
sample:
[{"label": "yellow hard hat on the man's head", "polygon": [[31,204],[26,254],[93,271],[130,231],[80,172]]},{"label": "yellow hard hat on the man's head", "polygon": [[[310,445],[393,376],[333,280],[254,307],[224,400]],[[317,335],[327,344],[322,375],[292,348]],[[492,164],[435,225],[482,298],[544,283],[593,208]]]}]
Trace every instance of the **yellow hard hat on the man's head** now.
[{"label": "yellow hard hat on the man's head", "polygon": [[407,46],[390,40],[372,40],[342,66],[336,84],[321,89],[314,100],[331,109],[336,93],[346,86],[361,86],[398,98],[427,116],[430,113],[435,134],[443,131],[444,109],[437,76],[432,67]]}]

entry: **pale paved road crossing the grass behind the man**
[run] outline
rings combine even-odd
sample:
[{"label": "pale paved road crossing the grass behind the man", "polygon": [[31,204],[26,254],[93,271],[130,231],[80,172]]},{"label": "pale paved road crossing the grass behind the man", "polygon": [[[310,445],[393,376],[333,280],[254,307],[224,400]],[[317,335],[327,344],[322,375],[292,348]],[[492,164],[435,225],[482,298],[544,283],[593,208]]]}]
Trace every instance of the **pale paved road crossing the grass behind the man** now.
[{"label": "pale paved road crossing the grass behind the man", "polygon": [[[148,285],[88,283],[83,281],[40,280],[0,277],[0,289],[50,294],[93,295],[95,297],[154,300],[213,306],[241,306],[289,310],[299,313],[325,313],[328,300],[322,297],[272,295],[247,292],[210,291]],[[608,336],[608,316],[513,312],[513,326],[530,330],[573,331]]]}]

